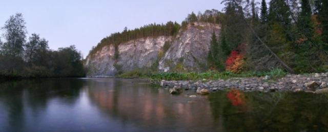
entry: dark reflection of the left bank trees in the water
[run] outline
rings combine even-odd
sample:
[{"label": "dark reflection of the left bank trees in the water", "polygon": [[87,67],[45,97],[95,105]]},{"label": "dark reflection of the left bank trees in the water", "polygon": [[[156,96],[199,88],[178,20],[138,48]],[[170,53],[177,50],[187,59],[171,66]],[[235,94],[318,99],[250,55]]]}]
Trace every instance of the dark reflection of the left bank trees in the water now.
[{"label": "dark reflection of the left bank trees in the water", "polygon": [[[26,79],[0,83],[0,131],[33,131],[26,126],[46,110],[50,99],[67,97],[71,105],[84,81],[78,79]],[[37,125],[37,124],[35,124]]]}]

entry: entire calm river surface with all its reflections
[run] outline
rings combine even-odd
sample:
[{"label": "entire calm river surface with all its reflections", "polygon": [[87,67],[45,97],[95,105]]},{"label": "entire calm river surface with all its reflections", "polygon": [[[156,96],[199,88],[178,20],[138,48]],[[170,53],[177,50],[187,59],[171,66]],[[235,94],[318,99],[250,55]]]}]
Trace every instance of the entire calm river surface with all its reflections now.
[{"label": "entire calm river surface with all its reflections", "polygon": [[172,96],[136,79],[0,83],[0,131],[328,131],[328,96]]}]

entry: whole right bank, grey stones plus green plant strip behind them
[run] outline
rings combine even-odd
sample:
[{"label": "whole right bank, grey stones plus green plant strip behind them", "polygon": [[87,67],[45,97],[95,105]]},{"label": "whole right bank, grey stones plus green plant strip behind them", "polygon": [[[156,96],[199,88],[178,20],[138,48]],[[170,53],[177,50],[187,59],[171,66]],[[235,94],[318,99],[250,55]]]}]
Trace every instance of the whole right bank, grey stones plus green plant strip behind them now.
[{"label": "whole right bank, grey stones plus green plant strip behind them", "polygon": [[171,94],[180,94],[183,90],[193,90],[200,95],[224,90],[328,93],[328,73],[289,74],[281,69],[241,74],[214,71],[151,74],[133,71],[121,74],[118,78],[146,78],[152,84],[170,89]]}]

